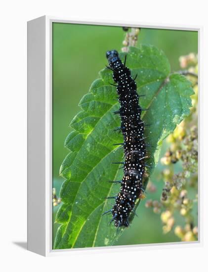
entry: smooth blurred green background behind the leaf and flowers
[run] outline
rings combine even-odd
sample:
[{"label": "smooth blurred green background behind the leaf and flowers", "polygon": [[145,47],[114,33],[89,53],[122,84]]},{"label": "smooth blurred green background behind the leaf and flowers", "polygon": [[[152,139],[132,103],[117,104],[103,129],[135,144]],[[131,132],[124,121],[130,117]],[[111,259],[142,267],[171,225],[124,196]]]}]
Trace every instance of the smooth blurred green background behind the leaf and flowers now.
[{"label": "smooth blurred green background behind the leaf and flowers", "polygon": [[[122,27],[53,23],[52,33],[53,187],[58,194],[63,182],[59,177],[59,168],[68,153],[64,148],[64,140],[71,132],[69,124],[80,111],[80,99],[88,92],[91,83],[98,78],[98,72],[107,64],[106,51],[121,51],[125,32]],[[198,33],[142,28],[138,45],[141,43],[162,49],[173,72],[180,69],[180,55],[198,52]],[[165,146],[163,150],[166,150]],[[179,164],[175,167],[176,172],[180,171]],[[159,200],[161,196],[164,185],[160,176],[162,169],[163,166],[159,164],[151,177],[157,185],[157,191],[149,193],[147,197],[153,200]],[[192,195],[194,191],[190,190],[189,193]],[[145,208],[144,204],[145,201],[142,201],[137,210],[139,218],[135,217],[131,227],[125,230],[116,245],[179,241],[172,231],[163,234],[160,216]],[[53,207],[53,222],[59,206]],[[176,218],[180,223],[180,216],[176,215]],[[58,226],[59,224],[53,224],[53,238]]]}]

